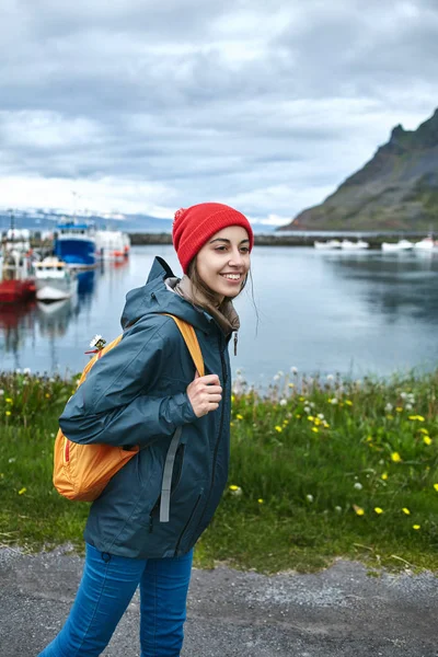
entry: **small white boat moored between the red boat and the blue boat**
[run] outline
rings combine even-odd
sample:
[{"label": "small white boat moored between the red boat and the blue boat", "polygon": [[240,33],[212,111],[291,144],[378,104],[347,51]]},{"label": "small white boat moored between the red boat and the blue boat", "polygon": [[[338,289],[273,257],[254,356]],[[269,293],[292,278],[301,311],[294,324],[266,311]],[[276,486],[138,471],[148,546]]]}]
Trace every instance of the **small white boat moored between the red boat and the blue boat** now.
[{"label": "small white boat moored between the red boat and the blue boat", "polygon": [[78,291],[78,277],[67,263],[57,257],[45,257],[34,264],[36,298],[38,301],[54,302],[69,299]]}]

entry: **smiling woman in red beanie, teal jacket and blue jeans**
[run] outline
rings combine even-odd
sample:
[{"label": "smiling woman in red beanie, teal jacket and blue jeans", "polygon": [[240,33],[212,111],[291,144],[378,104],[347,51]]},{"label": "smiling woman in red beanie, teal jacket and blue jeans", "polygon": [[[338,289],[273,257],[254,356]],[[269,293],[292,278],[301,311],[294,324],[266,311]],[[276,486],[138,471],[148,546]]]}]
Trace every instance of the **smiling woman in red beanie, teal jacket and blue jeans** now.
[{"label": "smiling woman in red beanie, teal jacket and blue jeans", "polygon": [[[140,586],[141,657],[177,657],[183,644],[193,546],[227,483],[231,377],[228,342],[239,328],[231,300],[246,283],[253,232],[233,208],[181,209],[173,244],[185,276],[155,258],[127,296],[124,336],[91,369],[59,424],[74,442],[139,445],[92,504],[85,565],[66,625],[39,657],[97,657]],[[195,372],[170,313],[195,328],[206,374]],[[160,492],[181,428],[169,521]],[[165,518],[164,518],[165,519]]]}]

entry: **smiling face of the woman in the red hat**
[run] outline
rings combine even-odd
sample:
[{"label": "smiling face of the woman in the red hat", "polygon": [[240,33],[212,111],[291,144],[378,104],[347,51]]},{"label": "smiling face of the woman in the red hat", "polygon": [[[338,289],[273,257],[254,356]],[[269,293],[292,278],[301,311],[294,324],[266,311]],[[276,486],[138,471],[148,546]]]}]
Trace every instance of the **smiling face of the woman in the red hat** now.
[{"label": "smiling face of the woman in the red hat", "polygon": [[196,256],[196,269],[219,303],[239,295],[250,270],[250,239],[244,228],[229,226],[215,233]]}]

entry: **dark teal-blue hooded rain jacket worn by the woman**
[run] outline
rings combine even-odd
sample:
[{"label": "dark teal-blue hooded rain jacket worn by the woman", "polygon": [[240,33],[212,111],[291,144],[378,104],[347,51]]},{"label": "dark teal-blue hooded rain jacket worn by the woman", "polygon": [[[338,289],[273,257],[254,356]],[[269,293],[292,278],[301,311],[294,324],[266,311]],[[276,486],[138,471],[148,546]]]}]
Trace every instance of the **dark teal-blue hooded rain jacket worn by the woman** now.
[{"label": "dark teal-blue hooded rain jacket worn by the woman", "polygon": [[[173,276],[155,258],[147,284],[128,292],[120,343],[90,370],[59,419],[73,442],[139,445],[140,451],[93,502],[85,541],[134,558],[185,554],[210,522],[227,483],[231,376],[228,339],[205,311],[170,291]],[[222,401],[197,418],[186,394],[195,366],[171,313],[196,331],[205,373],[219,376]],[[182,427],[171,486],[170,521],[159,507],[165,457]]]}]

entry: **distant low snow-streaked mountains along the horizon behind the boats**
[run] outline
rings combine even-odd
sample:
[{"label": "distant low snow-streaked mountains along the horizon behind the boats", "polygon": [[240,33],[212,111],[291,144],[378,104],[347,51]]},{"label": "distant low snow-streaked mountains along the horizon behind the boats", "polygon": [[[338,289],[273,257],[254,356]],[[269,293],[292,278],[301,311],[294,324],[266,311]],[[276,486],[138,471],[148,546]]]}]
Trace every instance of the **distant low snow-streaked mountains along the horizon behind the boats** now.
[{"label": "distant low snow-streaked mountains along the horizon behind the boats", "polygon": [[[15,228],[27,228],[32,231],[53,231],[56,224],[66,217],[60,210],[14,210]],[[78,221],[93,222],[96,228],[107,228],[110,230],[123,230],[124,232],[138,233],[171,233],[172,219],[159,219],[149,215],[92,215],[77,216]],[[0,209],[0,234],[5,231],[11,224],[11,212]],[[265,226],[263,223],[252,224],[254,232],[272,232],[274,226]]]}]

